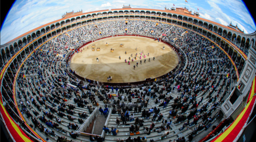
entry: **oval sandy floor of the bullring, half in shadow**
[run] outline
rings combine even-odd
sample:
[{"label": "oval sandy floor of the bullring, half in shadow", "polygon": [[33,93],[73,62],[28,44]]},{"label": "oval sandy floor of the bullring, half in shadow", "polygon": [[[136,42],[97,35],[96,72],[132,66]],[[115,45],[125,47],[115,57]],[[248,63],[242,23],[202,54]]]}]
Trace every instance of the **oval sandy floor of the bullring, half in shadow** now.
[{"label": "oval sandy floor of the bullring, half in shadow", "polygon": [[[105,46],[106,42],[109,46]],[[94,44],[96,45],[95,51],[92,51]],[[124,46],[119,47],[120,44]],[[165,46],[164,50],[163,46]],[[96,51],[98,47],[100,51]],[[113,53],[110,52],[111,48],[115,50]],[[142,50],[146,58],[142,54],[141,65],[139,53]],[[138,53],[137,60],[134,59],[136,53]],[[97,63],[96,57],[99,58],[99,63]],[[129,57],[131,57],[130,65],[128,64]],[[155,61],[153,61],[153,57],[155,57]],[[148,62],[149,58],[150,62]],[[125,59],[127,63],[125,63]],[[146,59],[146,63],[144,63],[144,59]],[[136,66],[137,62],[139,63],[138,67]],[[172,71],[178,62],[179,59],[175,51],[162,42],[145,37],[119,36],[102,39],[84,46],[82,53],[72,57],[70,67],[76,71],[77,75],[87,79],[107,82],[107,77],[112,76],[111,83],[128,83],[143,81],[145,78],[160,77]],[[136,66],[135,70],[133,65]]]}]

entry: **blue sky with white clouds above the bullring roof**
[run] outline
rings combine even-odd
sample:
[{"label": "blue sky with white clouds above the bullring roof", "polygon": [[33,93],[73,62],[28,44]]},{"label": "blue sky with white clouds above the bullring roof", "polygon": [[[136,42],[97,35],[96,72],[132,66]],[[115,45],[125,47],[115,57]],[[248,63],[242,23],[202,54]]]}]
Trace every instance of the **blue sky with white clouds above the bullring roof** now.
[{"label": "blue sky with white clouds above the bullring roof", "polygon": [[[256,30],[254,20],[241,0],[187,0],[186,7],[200,12],[200,17],[229,25],[232,21],[245,34]],[[1,45],[38,26],[61,19],[61,15],[72,10],[83,12],[122,8],[131,4],[132,8],[164,10],[164,7],[184,7],[185,0],[17,0],[1,29]]]}]

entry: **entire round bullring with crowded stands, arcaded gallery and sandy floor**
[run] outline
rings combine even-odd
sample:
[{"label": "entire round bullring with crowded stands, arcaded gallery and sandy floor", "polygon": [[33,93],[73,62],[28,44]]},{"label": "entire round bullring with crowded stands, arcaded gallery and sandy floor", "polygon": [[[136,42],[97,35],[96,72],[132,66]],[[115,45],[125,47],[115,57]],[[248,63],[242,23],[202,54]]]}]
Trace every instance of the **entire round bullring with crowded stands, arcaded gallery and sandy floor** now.
[{"label": "entire round bullring with crowded stands, arcaded gallery and sandy floor", "polygon": [[10,139],[243,141],[255,126],[256,32],[178,9],[73,12],[1,45]]}]

